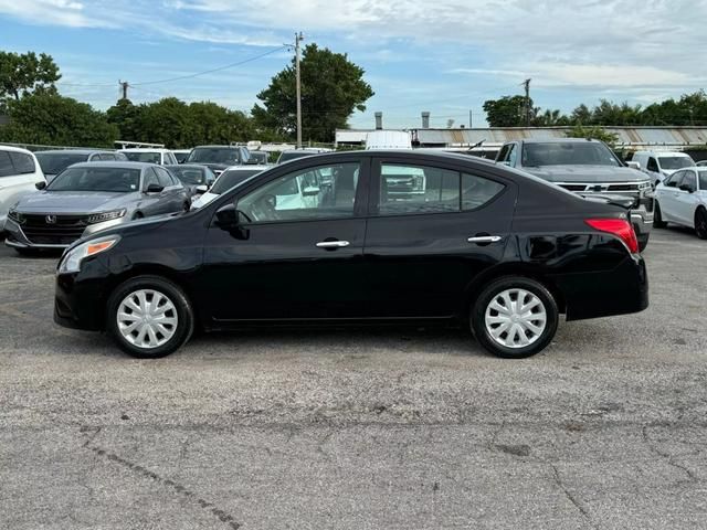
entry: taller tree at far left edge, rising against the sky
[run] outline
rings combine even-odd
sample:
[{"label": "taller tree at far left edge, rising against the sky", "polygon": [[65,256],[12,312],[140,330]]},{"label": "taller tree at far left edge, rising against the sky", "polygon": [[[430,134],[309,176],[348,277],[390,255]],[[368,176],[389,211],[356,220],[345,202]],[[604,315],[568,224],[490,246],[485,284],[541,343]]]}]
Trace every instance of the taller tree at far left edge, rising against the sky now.
[{"label": "taller tree at far left edge, rising against the sky", "polygon": [[0,102],[20,99],[33,92],[56,92],[59,66],[45,53],[23,54],[0,51]]}]

